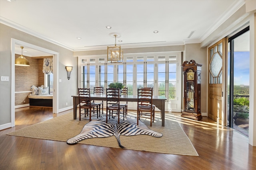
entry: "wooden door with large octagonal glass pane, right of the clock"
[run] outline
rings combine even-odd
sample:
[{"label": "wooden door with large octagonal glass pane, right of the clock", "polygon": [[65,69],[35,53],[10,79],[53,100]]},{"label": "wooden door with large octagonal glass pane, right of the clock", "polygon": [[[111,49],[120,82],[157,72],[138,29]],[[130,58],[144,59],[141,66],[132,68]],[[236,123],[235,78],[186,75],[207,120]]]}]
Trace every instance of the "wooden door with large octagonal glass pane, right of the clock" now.
[{"label": "wooden door with large octagonal glass pane, right of the clock", "polygon": [[225,125],[226,38],[208,48],[208,117]]}]

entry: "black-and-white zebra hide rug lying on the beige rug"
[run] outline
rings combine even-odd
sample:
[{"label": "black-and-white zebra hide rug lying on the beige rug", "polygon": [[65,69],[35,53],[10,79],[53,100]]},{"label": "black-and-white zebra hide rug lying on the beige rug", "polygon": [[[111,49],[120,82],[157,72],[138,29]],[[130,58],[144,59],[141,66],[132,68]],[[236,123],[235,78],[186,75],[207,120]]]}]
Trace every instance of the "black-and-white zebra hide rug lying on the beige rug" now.
[{"label": "black-and-white zebra hide rug lying on the beige rug", "polygon": [[[87,118],[84,118],[87,119]],[[81,133],[68,139],[68,144],[78,143],[84,139],[96,138],[96,137],[111,137],[115,136],[118,145],[124,148],[120,142],[120,135],[134,136],[134,135],[151,135],[153,137],[162,137],[162,133],[150,130],[142,121],[139,120],[137,126],[137,118],[127,115],[126,119],[120,117],[120,123],[118,124],[117,117],[109,119],[106,123],[106,115],[101,116],[98,119],[92,118],[92,121],[84,125]]]}]

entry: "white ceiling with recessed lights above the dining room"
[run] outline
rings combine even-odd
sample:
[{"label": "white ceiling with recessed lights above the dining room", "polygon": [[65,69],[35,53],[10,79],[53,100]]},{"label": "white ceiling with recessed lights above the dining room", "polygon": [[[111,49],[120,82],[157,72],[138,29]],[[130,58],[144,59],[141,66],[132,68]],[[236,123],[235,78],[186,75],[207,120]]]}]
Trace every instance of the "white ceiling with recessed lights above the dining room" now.
[{"label": "white ceiling with recessed lights above the dining room", "polygon": [[[106,49],[115,42],[110,33],[120,35],[117,44],[123,49],[201,43],[244,4],[244,0],[9,1],[0,0],[1,23],[72,51]],[[188,38],[191,31],[195,32]]]}]

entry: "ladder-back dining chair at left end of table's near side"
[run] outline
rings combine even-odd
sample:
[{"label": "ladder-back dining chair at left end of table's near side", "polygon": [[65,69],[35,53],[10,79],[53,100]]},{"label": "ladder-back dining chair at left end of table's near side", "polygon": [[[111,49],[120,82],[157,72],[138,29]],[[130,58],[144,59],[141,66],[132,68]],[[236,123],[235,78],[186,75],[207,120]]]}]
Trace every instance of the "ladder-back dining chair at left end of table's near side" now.
[{"label": "ladder-back dining chair at left end of table's near side", "polygon": [[[78,88],[78,96],[79,96],[79,120],[81,120],[81,115],[86,117],[86,112],[90,115],[90,121],[92,120],[92,108],[97,108],[98,105],[91,103],[91,96],[90,96],[90,88]],[[82,109],[84,109],[84,113],[82,113]],[[97,118],[98,118],[98,109],[97,110]]]}]

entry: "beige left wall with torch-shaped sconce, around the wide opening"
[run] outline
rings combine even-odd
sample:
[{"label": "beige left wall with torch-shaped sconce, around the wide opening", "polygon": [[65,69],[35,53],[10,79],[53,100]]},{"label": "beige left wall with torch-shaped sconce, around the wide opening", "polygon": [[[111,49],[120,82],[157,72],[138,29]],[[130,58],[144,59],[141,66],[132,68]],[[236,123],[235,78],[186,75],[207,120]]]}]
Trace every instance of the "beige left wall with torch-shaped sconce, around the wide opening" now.
[{"label": "beige left wall with torch-shaped sconce, around the wide opening", "polygon": [[[0,23],[0,75],[8,76],[9,81],[0,81],[0,126],[10,127],[13,113],[12,103],[12,68],[14,61],[12,61],[12,38],[42,47],[58,53],[58,79],[62,82],[58,84],[58,109],[65,109],[72,107],[72,95],[77,94],[77,58],[73,57],[73,51],[60,47],[59,45],[47,42],[43,39],[37,38],[28,33],[19,31],[7,25]],[[66,65],[73,66],[72,77],[67,78]],[[13,68],[13,71],[14,68]],[[14,89],[15,90],[15,89]],[[13,96],[15,98],[15,96]],[[24,101],[23,101],[24,102]],[[68,105],[66,106],[66,103]],[[14,109],[14,108],[13,108]]]}]

